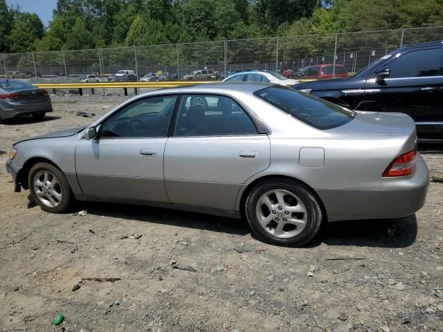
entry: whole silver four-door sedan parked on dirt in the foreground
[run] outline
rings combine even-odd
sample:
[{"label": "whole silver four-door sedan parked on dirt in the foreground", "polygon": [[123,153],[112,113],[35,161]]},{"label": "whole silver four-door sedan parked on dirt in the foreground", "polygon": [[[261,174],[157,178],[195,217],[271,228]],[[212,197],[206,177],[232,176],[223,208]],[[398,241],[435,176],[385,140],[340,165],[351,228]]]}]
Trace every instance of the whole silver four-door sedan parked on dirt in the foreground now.
[{"label": "whole silver four-door sedan parked on dirt in the foreground", "polygon": [[221,83],[137,95],[87,128],[15,143],[6,167],[48,212],[77,199],[245,216],[264,241],[301,246],[325,221],[422,208],[416,142],[401,113]]}]

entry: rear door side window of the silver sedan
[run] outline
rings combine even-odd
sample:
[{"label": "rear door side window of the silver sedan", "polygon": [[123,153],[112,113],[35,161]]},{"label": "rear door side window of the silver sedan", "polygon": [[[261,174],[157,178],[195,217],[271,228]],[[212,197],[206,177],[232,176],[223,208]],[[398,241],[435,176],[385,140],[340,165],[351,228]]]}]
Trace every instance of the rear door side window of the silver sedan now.
[{"label": "rear door side window of the silver sedan", "polygon": [[244,110],[221,95],[184,95],[174,136],[229,136],[257,133]]}]

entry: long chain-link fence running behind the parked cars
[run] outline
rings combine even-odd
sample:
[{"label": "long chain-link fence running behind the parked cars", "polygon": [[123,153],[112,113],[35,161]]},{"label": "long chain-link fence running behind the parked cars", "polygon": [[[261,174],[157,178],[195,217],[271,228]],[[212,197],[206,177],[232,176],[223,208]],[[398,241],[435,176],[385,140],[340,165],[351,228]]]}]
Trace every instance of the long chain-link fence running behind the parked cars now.
[{"label": "long chain-link fence running behind the parked cars", "polygon": [[138,80],[149,73],[157,73],[159,80],[181,80],[192,71],[204,69],[213,69],[221,79],[235,71],[281,73],[287,68],[296,70],[316,64],[340,64],[348,73],[356,73],[396,48],[442,39],[443,27],[433,27],[15,53],[0,55],[0,73],[27,78],[33,83],[79,82],[88,74],[96,74],[100,82],[107,82],[119,70],[134,71]]}]

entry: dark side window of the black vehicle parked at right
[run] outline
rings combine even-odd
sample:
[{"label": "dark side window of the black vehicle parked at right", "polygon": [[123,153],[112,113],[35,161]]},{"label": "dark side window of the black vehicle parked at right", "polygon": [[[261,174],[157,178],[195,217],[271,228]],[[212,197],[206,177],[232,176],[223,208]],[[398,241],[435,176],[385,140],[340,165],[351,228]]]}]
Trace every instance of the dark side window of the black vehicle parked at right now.
[{"label": "dark side window of the black vehicle parked at right", "polygon": [[440,48],[415,50],[386,64],[389,78],[440,75]]}]

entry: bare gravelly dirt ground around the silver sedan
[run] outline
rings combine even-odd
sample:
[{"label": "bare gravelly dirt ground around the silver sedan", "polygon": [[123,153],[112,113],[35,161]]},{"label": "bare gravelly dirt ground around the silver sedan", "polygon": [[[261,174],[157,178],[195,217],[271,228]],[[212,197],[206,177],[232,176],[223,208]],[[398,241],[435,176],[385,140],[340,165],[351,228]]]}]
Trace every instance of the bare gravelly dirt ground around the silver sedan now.
[{"label": "bare gravelly dirt ground around the silver sedan", "polygon": [[[125,97],[52,99],[44,121],[0,124],[0,150],[87,124],[75,111],[100,116]],[[6,158],[0,331],[443,331],[443,183],[431,182],[414,216],[330,223],[294,249],[260,242],[244,220],[205,214],[104,203],[79,205],[85,216],[28,209]],[[442,153],[424,158],[443,172]],[[82,282],[103,277],[120,279]],[[65,320],[54,326],[59,313]]]}]

